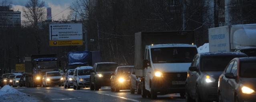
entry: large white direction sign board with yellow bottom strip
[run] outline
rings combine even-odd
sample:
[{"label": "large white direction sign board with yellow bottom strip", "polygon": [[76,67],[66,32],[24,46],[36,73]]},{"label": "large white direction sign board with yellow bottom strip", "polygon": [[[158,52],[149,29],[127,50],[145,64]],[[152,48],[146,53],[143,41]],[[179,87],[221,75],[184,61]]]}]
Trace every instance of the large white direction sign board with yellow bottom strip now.
[{"label": "large white direction sign board with yellow bottom strip", "polygon": [[49,45],[83,45],[82,24],[50,24]]}]

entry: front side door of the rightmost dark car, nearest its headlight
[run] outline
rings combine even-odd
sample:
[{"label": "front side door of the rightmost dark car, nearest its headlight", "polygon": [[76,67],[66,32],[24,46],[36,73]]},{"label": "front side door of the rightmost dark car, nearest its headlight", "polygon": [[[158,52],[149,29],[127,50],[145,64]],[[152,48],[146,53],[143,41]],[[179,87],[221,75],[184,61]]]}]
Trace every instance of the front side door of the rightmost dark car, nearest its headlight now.
[{"label": "front side door of the rightmost dark car, nearest its headlight", "polygon": [[[237,77],[237,61],[234,61],[233,67],[231,69],[231,73],[234,74],[234,77]],[[225,91],[227,91],[227,100],[229,100],[230,102],[234,102],[234,89],[236,88],[236,79],[233,78],[228,78],[227,79],[228,82],[228,87],[226,88]]]}]

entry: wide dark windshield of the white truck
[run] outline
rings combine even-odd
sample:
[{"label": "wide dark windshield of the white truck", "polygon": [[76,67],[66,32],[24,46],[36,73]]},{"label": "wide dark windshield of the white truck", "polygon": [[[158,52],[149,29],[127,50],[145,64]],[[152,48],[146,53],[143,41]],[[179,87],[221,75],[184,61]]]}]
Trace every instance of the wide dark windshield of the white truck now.
[{"label": "wide dark windshield of the white truck", "polygon": [[153,63],[191,63],[196,47],[163,47],[151,49]]}]

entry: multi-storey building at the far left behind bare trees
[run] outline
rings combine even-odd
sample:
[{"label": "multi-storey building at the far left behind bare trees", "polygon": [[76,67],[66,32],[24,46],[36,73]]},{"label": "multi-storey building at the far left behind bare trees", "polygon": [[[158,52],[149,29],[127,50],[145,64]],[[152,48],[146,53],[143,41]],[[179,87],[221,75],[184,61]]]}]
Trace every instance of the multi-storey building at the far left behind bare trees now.
[{"label": "multi-storey building at the far left behind bare trees", "polygon": [[10,10],[9,6],[0,6],[0,28],[20,27],[20,11]]}]

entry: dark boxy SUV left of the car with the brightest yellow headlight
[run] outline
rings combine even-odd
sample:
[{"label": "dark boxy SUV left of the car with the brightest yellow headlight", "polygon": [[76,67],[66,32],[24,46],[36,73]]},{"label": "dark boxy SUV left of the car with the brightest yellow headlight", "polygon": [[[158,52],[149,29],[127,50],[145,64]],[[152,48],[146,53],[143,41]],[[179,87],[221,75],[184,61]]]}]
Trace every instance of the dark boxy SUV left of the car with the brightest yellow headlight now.
[{"label": "dark boxy SUV left of the car with the brightest yellow headlight", "polygon": [[90,77],[90,89],[99,90],[101,86],[110,86],[111,74],[117,68],[117,63],[95,63]]}]

